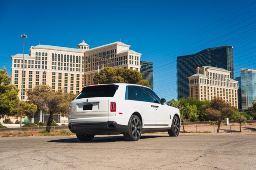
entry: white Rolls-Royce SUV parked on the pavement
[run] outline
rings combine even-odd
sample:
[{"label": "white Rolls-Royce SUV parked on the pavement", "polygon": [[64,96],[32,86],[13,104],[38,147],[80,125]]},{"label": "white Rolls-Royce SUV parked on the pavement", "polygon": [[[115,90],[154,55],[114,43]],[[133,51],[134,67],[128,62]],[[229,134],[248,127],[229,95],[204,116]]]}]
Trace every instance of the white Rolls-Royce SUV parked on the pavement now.
[{"label": "white Rolls-Royce SUV parked on the pavement", "polygon": [[148,87],[136,84],[86,86],[71,102],[68,128],[80,141],[94,135],[124,134],[127,141],[138,141],[142,133],[180,132],[179,109],[164,104]]}]

